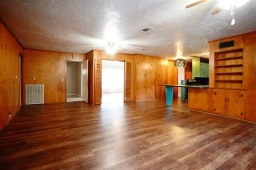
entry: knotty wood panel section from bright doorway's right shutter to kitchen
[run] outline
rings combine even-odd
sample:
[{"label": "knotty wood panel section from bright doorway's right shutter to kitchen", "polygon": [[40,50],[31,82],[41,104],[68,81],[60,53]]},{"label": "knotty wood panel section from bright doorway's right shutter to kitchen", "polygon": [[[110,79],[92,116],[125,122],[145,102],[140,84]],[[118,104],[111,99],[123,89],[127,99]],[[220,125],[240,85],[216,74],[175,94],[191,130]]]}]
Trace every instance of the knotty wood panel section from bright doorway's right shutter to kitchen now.
[{"label": "knotty wood panel section from bright doorway's right shutter to kitchen", "polygon": [[[165,88],[158,84],[177,84],[178,70],[174,61],[161,57],[135,54],[134,70],[134,101],[150,101],[165,98]],[[174,90],[177,96],[177,89]]]}]

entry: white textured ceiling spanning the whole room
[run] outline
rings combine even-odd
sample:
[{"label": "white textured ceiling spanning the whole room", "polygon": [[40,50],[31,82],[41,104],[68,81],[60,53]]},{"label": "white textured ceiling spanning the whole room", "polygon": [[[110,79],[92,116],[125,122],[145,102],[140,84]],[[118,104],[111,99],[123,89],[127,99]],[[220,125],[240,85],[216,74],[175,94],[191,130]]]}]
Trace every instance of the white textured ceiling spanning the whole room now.
[{"label": "white textured ceiling spanning the whole room", "polygon": [[[198,0],[0,0],[0,18],[25,48],[86,53],[105,50],[175,57],[204,56],[208,41],[256,30],[256,0],[214,16],[218,1]],[[140,30],[154,28],[146,33]],[[145,50],[142,50],[142,49]]]}]

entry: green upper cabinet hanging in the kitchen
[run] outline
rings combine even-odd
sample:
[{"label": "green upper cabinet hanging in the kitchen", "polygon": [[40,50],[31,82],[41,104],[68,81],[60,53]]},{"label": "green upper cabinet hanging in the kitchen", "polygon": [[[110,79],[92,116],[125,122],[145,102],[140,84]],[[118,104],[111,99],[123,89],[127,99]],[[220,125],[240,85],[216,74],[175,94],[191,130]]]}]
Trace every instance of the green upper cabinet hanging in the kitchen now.
[{"label": "green upper cabinet hanging in the kitchen", "polygon": [[209,77],[209,60],[202,58],[192,59],[192,78]]}]

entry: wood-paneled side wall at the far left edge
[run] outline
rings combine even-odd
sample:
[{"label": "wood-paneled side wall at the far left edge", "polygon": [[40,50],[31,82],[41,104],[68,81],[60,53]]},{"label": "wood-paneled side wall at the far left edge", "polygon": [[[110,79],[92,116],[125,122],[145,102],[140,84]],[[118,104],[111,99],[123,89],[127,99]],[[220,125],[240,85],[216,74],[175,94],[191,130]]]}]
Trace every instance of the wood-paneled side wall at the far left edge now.
[{"label": "wood-paneled side wall at the far left edge", "polygon": [[0,131],[20,110],[19,54],[22,47],[0,22]]}]

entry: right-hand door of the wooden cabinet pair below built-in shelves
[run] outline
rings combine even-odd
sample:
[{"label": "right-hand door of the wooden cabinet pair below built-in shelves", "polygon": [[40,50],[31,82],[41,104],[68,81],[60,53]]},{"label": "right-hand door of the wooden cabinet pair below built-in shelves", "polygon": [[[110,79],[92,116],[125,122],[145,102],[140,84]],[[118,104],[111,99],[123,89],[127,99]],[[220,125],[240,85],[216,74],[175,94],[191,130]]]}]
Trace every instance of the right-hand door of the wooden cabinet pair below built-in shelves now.
[{"label": "right-hand door of the wooden cabinet pair below built-in shelves", "polygon": [[227,92],[227,113],[228,116],[237,119],[244,119],[244,95],[240,91]]}]

